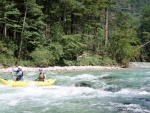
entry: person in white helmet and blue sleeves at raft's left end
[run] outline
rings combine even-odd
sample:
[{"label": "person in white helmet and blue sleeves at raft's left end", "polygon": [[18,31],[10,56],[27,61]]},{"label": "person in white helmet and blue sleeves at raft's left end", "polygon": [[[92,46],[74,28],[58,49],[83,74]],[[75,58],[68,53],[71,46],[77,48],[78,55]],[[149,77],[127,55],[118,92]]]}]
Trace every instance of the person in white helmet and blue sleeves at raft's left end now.
[{"label": "person in white helmet and blue sleeves at raft's left end", "polygon": [[14,70],[14,72],[16,72],[16,74],[14,76],[16,76],[16,81],[23,81],[23,71],[22,71],[22,67],[18,66],[17,70]]}]

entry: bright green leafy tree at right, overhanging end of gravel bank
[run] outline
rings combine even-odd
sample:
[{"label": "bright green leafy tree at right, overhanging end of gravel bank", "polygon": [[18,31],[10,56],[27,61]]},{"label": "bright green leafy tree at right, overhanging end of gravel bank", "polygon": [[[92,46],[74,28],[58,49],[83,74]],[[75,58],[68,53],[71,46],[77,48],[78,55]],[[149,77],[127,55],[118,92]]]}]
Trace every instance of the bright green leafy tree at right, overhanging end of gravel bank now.
[{"label": "bright green leafy tree at right, overhanging end of gravel bank", "polygon": [[116,17],[113,20],[116,26],[110,34],[109,52],[120,64],[128,66],[128,62],[139,55],[139,51],[135,51],[139,41],[134,29],[134,18],[123,12],[117,13]]}]

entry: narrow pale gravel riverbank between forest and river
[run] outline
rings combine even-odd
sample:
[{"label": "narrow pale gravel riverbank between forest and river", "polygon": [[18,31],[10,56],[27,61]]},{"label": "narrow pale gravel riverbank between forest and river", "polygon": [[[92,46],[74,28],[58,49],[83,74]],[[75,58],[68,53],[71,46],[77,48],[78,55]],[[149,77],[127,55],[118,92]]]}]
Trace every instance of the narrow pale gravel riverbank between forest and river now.
[{"label": "narrow pale gravel riverbank between forest and river", "polygon": [[[0,73],[12,72],[12,68],[17,67],[8,67],[1,68]],[[122,69],[118,66],[54,66],[54,67],[46,67],[43,68],[44,71],[80,71],[80,70],[114,70],[114,69]],[[38,71],[38,67],[22,67],[24,72],[35,72]]]}]

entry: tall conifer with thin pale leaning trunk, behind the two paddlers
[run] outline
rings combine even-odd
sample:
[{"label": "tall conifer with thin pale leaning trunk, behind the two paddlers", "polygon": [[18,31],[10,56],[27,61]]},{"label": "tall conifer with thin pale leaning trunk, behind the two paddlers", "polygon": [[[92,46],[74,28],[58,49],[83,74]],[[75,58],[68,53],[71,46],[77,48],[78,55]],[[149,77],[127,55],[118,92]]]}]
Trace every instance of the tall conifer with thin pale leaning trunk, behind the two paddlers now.
[{"label": "tall conifer with thin pale leaning trunk, behind the two paddlers", "polygon": [[25,53],[33,51],[45,38],[45,16],[41,9],[35,0],[24,0],[19,9],[23,15],[18,60],[26,58]]}]

